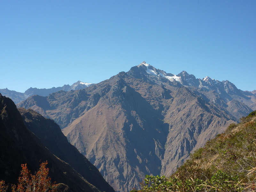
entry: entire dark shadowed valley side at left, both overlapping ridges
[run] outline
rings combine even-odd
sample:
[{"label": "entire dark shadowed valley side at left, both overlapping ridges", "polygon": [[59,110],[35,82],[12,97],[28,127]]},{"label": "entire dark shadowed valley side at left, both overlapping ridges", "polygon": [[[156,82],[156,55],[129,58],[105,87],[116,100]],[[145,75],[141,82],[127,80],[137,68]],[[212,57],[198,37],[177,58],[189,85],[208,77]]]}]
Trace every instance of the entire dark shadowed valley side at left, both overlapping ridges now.
[{"label": "entire dark shadowed valley side at left, both overlapping ridges", "polygon": [[[35,172],[40,161],[47,160],[50,169],[49,175],[52,180],[57,183],[64,183],[60,187],[64,187],[68,191],[114,191],[102,178],[98,170],[84,156],[78,155],[76,148],[68,143],[57,124],[32,110],[20,110],[26,117],[26,123],[34,132],[28,130],[23,123],[23,119],[13,101],[0,94],[0,180],[14,184],[18,180],[21,164],[28,164],[28,168]],[[39,132],[41,138],[36,137],[36,133]],[[58,153],[55,151],[56,146],[51,146],[50,143],[48,143],[50,145],[47,145],[47,140],[51,140],[51,137],[54,137],[55,141],[53,142],[67,147],[69,151],[62,149]],[[79,172],[79,169],[76,171],[76,167],[73,168],[72,164],[67,163],[68,152],[73,153],[78,159],[80,158],[78,163],[83,167],[84,172]],[[83,159],[83,162],[81,162],[81,159]],[[63,160],[67,160],[67,162]],[[92,185],[85,178],[88,180],[97,178],[97,181],[92,180],[92,183],[94,182],[94,185]],[[98,188],[95,186],[98,186]]]}]

